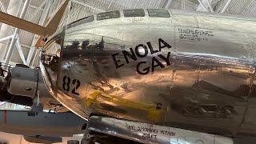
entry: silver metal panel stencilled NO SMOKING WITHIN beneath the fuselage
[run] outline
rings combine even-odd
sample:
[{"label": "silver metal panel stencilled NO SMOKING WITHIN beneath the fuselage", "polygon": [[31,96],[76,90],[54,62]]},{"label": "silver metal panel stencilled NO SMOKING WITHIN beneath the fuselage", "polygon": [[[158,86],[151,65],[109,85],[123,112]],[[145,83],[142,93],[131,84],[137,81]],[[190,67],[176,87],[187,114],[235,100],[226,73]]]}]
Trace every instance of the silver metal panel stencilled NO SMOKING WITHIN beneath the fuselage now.
[{"label": "silver metal panel stencilled NO SMOKING WITHIN beneath the fuselage", "polygon": [[90,118],[88,129],[142,143],[233,144],[231,138],[214,134],[100,116],[92,116]]}]

